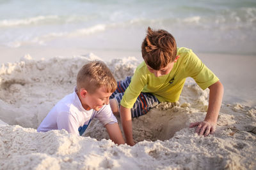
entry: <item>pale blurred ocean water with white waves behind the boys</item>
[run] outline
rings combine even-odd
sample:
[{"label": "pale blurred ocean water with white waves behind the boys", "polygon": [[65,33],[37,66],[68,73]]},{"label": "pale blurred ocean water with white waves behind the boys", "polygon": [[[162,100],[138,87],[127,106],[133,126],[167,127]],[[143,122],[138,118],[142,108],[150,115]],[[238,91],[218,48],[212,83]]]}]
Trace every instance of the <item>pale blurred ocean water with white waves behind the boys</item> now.
[{"label": "pale blurred ocean water with white waves behind the boys", "polygon": [[256,54],[255,0],[0,0],[0,48],[7,52],[140,52],[148,26],[196,52]]}]

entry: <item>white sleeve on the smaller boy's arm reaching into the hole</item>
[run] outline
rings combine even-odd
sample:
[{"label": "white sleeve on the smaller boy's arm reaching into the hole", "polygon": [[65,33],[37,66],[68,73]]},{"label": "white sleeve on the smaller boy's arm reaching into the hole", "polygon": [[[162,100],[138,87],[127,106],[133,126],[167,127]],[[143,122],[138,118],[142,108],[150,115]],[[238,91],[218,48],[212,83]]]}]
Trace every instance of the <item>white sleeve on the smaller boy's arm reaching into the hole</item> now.
[{"label": "white sleeve on the smaller boy's arm reaching into the hole", "polygon": [[97,111],[95,118],[97,118],[103,126],[106,124],[117,123],[116,117],[113,115],[109,104],[104,105],[99,111]]}]

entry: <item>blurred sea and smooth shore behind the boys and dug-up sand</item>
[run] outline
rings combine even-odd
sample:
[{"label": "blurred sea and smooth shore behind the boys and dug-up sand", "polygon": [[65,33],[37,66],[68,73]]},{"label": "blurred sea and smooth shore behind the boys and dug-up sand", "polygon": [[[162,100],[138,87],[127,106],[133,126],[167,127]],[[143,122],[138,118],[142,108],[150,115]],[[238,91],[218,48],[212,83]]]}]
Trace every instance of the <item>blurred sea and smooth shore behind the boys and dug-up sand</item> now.
[{"label": "blurred sea and smooth shore behind the boys and dug-up sand", "polygon": [[256,106],[255,0],[0,0],[0,63],[27,53],[142,60],[148,26],[200,54],[224,84],[224,101]]}]

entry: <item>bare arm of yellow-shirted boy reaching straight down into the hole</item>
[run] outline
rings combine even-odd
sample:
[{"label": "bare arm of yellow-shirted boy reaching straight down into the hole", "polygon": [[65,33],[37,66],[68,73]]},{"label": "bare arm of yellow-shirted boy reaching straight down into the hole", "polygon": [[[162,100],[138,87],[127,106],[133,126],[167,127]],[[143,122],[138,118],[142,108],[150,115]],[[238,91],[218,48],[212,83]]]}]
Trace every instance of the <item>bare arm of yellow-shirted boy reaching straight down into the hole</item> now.
[{"label": "bare arm of yellow-shirted boy reaching straight down into the hole", "polygon": [[132,138],[131,109],[125,108],[124,106],[120,105],[120,117],[121,117],[123,129],[124,129],[126,143],[130,146],[133,146],[135,145],[135,143]]}]

